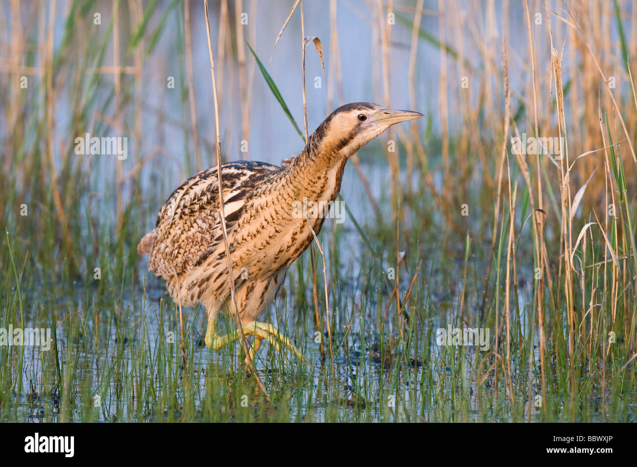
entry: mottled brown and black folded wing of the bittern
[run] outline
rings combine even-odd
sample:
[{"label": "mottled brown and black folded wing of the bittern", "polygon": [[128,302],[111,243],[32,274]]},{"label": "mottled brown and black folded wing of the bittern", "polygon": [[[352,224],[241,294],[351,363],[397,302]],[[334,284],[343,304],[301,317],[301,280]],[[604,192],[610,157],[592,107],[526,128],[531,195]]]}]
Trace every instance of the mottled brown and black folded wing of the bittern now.
[{"label": "mottled brown and black folded wing of the bittern", "polygon": [[[251,190],[278,169],[252,161],[222,165],[225,227],[229,238]],[[185,274],[222,244],[218,194],[216,167],[197,173],[171,194],[157,216],[148,269],[164,278]]]}]

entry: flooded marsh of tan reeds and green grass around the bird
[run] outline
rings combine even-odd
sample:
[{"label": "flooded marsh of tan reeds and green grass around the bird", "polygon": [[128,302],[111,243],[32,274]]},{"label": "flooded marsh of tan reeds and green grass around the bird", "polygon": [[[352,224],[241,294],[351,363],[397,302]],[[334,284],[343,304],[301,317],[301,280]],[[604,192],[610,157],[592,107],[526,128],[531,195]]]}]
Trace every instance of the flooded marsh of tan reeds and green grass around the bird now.
[{"label": "flooded marsh of tan reeds and green grass around the bird", "polygon": [[[264,345],[256,373],[203,345],[203,310],[181,327],[136,252],[216,164],[203,4],[3,4],[0,420],[637,421],[637,8],[289,3],[210,2],[224,161],[265,157],[258,129],[301,150],[292,103],[362,100],[347,80],[427,122],[352,158],[343,222],[268,315],[311,365]],[[369,75],[343,73],[363,34]],[[308,92],[324,80],[307,102],[306,67]],[[127,157],[76,154],[87,133],[125,136]],[[49,329],[50,350],[10,327]]]}]

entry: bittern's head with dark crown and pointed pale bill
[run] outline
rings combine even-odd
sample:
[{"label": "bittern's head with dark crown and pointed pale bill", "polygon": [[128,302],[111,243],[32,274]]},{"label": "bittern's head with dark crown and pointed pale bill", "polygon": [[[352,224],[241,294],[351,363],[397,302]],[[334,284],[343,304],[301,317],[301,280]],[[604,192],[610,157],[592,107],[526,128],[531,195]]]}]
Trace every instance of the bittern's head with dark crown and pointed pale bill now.
[{"label": "bittern's head with dark crown and pointed pale bill", "polygon": [[310,136],[308,147],[350,157],[393,124],[419,119],[422,113],[389,110],[378,104],[355,102],[334,110]]}]

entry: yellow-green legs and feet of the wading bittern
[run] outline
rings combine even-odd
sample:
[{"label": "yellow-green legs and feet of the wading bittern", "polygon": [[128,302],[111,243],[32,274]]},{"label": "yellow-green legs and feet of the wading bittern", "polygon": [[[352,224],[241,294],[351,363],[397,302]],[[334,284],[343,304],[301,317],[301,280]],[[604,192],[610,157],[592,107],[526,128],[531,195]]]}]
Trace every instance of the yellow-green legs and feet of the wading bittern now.
[{"label": "yellow-green legs and feet of the wading bittern", "polygon": [[[303,352],[296,348],[292,341],[290,341],[287,337],[279,334],[276,328],[271,324],[260,321],[250,321],[248,324],[243,325],[243,334],[255,337],[254,345],[250,348],[250,358],[253,358],[255,352],[259,350],[259,347],[261,347],[261,341],[266,339],[278,352],[281,351],[280,344],[283,344],[285,347],[292,350],[297,358],[303,359],[306,362],[308,361],[303,355]],[[224,347],[224,345],[228,345],[229,343],[238,340],[240,337],[241,334],[238,329],[232,333],[225,334],[225,336],[219,336],[217,331],[215,331],[215,321],[211,319],[208,320],[208,328],[206,329],[206,345],[208,348],[219,350]]]}]

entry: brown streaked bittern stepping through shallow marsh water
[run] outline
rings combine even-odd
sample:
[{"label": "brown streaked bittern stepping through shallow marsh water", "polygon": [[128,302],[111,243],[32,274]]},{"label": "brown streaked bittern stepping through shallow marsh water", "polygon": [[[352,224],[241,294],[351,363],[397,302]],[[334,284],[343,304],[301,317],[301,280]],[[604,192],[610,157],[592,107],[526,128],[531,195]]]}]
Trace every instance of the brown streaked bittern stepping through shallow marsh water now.
[{"label": "brown streaked bittern stepping through shallow marsh water", "polygon": [[[313,241],[311,229],[320,231],[341,189],[347,160],[393,124],[422,116],[371,103],[347,104],[318,126],[301,154],[280,167],[252,161],[222,164],[237,308],[228,305],[231,313],[238,310],[243,333],[254,335],[251,357],[263,339],[303,357],[289,339],[257,319],[274,301],[287,268]],[[148,269],[166,279],[178,305],[201,303],[206,308],[205,342],[215,350],[240,337],[238,331],[226,336],[215,331],[218,313],[231,297],[217,170],[216,166],[206,169],[183,182],[162,206],[155,228],[138,245],[138,253],[150,255]],[[299,216],[294,206],[301,200],[315,201],[320,208],[311,216]]]}]

